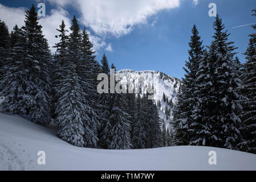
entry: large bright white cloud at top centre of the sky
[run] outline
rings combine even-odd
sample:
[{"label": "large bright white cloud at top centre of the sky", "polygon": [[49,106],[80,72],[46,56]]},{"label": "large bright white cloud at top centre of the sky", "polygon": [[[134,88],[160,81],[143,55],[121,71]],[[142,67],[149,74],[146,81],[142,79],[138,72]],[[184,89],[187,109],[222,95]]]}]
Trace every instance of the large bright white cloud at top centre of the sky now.
[{"label": "large bright white cloud at top centre of the sky", "polygon": [[149,16],[178,7],[180,0],[47,0],[55,5],[72,5],[82,15],[81,22],[100,36],[129,34]]}]

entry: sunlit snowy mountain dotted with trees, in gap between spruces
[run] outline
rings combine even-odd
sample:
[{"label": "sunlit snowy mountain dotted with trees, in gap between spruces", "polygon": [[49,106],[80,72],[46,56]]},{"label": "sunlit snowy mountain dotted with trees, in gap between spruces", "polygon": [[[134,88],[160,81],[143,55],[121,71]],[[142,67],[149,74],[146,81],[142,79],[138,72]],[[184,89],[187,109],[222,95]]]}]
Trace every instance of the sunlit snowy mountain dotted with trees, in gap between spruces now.
[{"label": "sunlit snowy mountain dotted with trees, in gap between spruces", "polygon": [[[136,84],[141,79],[144,80],[147,86],[153,84],[155,89],[154,100],[156,103],[158,101],[161,103],[161,106],[159,106],[160,117],[165,120],[165,124],[168,126],[169,121],[173,117],[172,110],[178,88],[180,87],[180,80],[158,71],[133,71],[132,69],[122,69],[117,72],[117,75],[121,77],[121,81],[125,84],[127,84],[128,80]],[[163,94],[166,96],[165,102]],[[165,112],[166,107],[170,114]]]}]

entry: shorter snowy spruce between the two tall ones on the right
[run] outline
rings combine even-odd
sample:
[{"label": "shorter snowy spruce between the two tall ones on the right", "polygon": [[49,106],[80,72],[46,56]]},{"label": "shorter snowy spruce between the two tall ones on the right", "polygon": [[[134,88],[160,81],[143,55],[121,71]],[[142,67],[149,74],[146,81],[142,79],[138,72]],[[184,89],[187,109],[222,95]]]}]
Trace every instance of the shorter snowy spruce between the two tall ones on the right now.
[{"label": "shorter snowy spruce between the two tall ones on the right", "polygon": [[211,110],[209,109],[211,97],[209,90],[212,89],[212,82],[209,76],[209,54],[206,49],[203,51],[202,59],[196,73],[194,89],[196,90],[196,104],[192,110],[192,130],[193,139],[190,144],[197,146],[212,146],[216,136],[212,133],[213,121],[210,119]]}]

